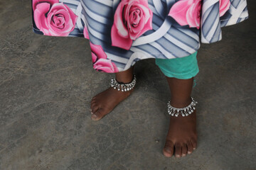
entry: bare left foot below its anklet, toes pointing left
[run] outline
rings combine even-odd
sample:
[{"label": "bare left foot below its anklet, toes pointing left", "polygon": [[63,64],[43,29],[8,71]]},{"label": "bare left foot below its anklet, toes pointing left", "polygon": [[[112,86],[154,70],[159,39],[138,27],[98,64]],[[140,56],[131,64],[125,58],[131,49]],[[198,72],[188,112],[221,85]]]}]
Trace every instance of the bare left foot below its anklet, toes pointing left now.
[{"label": "bare left foot below its anklet, toes pointing left", "polygon": [[132,91],[118,91],[113,87],[102,91],[92,98],[91,109],[92,109],[92,120],[100,120],[107,113],[110,113],[118,103],[127,98]]}]

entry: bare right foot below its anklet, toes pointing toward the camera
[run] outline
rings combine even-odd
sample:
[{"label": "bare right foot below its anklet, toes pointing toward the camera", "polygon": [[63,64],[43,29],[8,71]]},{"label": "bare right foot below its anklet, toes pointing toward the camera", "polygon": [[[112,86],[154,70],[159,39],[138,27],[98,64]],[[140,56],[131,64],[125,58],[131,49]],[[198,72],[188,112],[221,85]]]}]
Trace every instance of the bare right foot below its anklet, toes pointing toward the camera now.
[{"label": "bare right foot below its anklet, toes pointing toward the camera", "polygon": [[185,157],[196,149],[196,110],[191,115],[170,116],[169,132],[163,149],[164,156]]}]

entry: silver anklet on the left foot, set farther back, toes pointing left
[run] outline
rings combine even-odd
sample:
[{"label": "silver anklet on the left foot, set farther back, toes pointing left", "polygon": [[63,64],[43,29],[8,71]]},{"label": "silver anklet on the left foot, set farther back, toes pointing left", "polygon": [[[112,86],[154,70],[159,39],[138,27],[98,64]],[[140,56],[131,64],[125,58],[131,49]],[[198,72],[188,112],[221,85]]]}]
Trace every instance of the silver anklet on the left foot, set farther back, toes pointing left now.
[{"label": "silver anklet on the left foot, set farther back, toes pointing left", "polygon": [[117,79],[111,79],[111,86],[114,87],[114,89],[117,89],[118,91],[130,91],[134,88],[136,84],[136,77],[135,74],[133,74],[133,79],[130,83],[122,83],[118,82]]}]

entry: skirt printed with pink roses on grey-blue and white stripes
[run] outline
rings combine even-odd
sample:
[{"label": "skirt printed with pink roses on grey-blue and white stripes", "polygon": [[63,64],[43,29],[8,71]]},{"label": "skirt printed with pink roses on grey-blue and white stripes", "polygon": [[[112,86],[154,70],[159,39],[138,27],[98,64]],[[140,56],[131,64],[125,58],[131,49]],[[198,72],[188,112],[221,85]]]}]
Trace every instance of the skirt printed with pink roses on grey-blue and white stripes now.
[{"label": "skirt printed with pink roses on grey-blue and white stripes", "polygon": [[109,73],[186,57],[248,18],[246,0],[32,0],[32,15],[34,33],[90,40],[92,67]]}]

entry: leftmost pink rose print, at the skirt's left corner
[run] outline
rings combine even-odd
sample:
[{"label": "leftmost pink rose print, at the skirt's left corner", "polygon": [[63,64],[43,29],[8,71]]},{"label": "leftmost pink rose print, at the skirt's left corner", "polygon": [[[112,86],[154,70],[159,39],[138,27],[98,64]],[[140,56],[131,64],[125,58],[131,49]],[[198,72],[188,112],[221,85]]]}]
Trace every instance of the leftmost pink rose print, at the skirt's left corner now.
[{"label": "leftmost pink rose print, at the skirt's left corner", "polygon": [[34,21],[44,35],[68,36],[78,16],[58,0],[33,0]]}]

